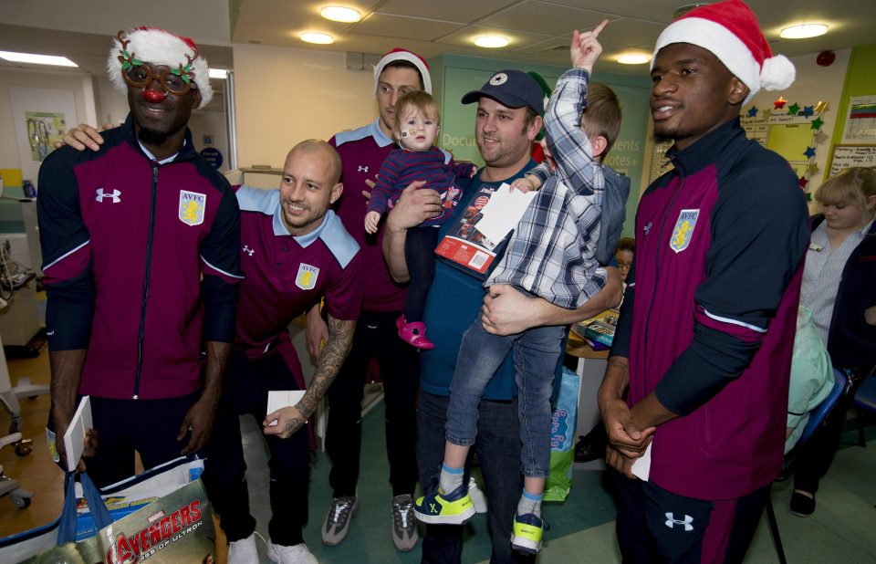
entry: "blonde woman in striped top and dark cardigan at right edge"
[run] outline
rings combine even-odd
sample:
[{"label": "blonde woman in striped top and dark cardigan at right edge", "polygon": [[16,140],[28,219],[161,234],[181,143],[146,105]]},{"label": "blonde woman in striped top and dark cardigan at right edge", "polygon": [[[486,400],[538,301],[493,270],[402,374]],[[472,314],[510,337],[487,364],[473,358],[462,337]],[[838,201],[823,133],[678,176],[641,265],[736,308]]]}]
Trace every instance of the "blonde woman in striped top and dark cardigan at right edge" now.
[{"label": "blonde woman in striped top and dark cardigan at right edge", "polygon": [[876,171],[840,172],[815,199],[822,214],[812,218],[800,306],[812,311],[833,366],[849,375],[850,385],[798,454],[791,512],[800,517],[815,511],[819,479],[840,446],[851,401],[876,365]]}]

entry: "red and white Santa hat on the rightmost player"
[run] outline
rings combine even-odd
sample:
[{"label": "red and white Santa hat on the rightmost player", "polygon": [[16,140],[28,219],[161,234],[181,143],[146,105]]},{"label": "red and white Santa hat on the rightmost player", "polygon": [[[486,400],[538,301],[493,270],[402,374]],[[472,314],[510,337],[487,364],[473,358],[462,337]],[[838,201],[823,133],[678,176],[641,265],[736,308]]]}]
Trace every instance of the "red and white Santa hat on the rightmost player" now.
[{"label": "red and white Santa hat on the rightmost player", "polygon": [[743,104],[761,88],[787,89],[796,76],[794,65],[787,57],[773,56],[757,16],[740,0],[702,5],[676,19],[657,38],[654,58],[660,49],[673,43],[703,47],[718,57],[748,87],[748,97]]}]

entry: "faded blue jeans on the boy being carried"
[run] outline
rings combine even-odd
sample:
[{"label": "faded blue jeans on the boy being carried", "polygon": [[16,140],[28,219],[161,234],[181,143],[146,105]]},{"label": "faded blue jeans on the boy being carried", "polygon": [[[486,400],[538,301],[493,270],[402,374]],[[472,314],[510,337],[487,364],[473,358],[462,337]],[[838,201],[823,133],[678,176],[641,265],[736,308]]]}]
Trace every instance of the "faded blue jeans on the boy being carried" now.
[{"label": "faded blue jeans on the boy being carried", "polygon": [[550,474],[550,395],[566,328],[537,327],[505,337],[484,330],[480,318],[463,335],[450,384],[450,407],[444,428],[447,441],[474,444],[478,405],[486,384],[514,349],[520,419],[520,465],[527,477]]}]

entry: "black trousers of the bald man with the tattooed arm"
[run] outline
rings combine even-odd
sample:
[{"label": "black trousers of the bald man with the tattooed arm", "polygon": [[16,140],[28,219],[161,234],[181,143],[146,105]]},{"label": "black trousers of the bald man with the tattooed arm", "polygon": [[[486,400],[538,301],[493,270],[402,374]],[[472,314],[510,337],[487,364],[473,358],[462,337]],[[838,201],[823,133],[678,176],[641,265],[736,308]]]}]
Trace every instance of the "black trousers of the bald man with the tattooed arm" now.
[{"label": "black trousers of the bald man with the tattooed arm", "polygon": [[[300,372],[300,367],[296,370]],[[261,428],[266,415],[267,392],[299,387],[292,369],[277,350],[270,350],[256,360],[247,359],[241,350],[232,352],[203,472],[204,486],[228,542],[246,538],[255,530],[255,518],[249,513],[239,416],[252,415]],[[265,437],[270,450],[272,512],[268,532],[277,545],[294,546],[304,542],[301,529],[308,522],[310,480],[308,433],[305,426],[288,439],[276,435]]]}]

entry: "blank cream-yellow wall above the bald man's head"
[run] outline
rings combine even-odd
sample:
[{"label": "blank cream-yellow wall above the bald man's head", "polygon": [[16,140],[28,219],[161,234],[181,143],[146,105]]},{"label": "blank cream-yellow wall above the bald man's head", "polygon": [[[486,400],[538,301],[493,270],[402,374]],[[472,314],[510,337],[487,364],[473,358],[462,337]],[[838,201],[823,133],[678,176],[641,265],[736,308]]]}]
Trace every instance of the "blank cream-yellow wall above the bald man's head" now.
[{"label": "blank cream-yellow wall above the bald man's head", "polygon": [[280,168],[298,141],[327,140],[377,117],[371,71],[343,53],[235,45],[237,154],[241,167]]}]

